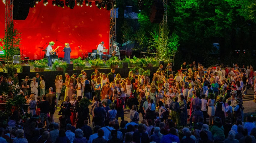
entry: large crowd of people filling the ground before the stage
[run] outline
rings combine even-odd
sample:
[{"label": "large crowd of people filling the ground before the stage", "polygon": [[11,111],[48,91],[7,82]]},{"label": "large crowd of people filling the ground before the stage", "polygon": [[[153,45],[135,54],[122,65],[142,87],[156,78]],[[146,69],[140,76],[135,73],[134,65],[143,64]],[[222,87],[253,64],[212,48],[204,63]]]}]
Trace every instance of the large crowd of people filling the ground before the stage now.
[{"label": "large crowd of people filling the ground before the stage", "polygon": [[[221,64],[206,69],[193,61],[184,62],[175,74],[168,63],[165,70],[160,65],[152,79],[138,71],[122,78],[114,69],[108,74],[95,69],[88,80],[82,70],[71,77],[66,73],[65,81],[56,76],[55,88],[47,94],[44,76],[37,73],[29,86],[29,77],[19,85],[17,75],[1,76],[0,89],[14,86],[16,96],[23,95],[29,104],[32,117],[22,122],[15,110],[8,123],[1,124],[3,143],[256,142],[256,118],[247,116],[244,121],[243,116],[247,89],[256,93],[251,66]],[[62,89],[65,97],[59,105]],[[54,121],[58,106],[60,124]],[[128,122],[124,113],[129,110]]]}]

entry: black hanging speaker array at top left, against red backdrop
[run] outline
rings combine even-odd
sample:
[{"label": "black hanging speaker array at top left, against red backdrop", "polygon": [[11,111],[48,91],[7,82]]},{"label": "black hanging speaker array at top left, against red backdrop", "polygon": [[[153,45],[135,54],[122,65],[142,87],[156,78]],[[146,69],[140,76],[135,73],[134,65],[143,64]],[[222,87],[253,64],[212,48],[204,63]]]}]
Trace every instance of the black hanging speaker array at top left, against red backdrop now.
[{"label": "black hanging speaker array at top left, against red backdrop", "polygon": [[13,1],[13,19],[25,20],[29,15],[29,0],[14,0]]}]

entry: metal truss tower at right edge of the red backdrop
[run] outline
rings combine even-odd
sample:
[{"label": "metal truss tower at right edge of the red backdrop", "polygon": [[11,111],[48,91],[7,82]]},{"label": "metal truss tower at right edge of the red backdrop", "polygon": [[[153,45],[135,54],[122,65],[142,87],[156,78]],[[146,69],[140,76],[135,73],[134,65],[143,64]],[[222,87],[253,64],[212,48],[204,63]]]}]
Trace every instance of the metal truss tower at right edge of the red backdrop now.
[{"label": "metal truss tower at right edge of the red backdrop", "polygon": [[116,41],[116,15],[117,10],[112,3],[112,8],[110,11],[110,18],[109,18],[109,50],[112,50],[112,45]]}]

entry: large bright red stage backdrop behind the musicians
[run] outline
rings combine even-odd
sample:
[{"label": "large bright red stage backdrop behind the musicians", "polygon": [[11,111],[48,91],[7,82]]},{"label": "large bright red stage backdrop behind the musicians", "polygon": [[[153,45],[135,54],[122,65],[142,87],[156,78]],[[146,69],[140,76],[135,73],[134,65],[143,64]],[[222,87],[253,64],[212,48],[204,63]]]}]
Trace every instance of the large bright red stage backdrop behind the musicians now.
[{"label": "large bright red stage backdrop behind the musicians", "polygon": [[[64,46],[62,43],[69,43],[71,47],[71,58],[81,56],[79,47],[83,54],[97,49],[101,41],[105,42],[105,47],[109,45],[109,17],[110,11],[99,10],[93,2],[92,7],[79,7],[75,5],[74,9],[69,7],[57,7],[51,4],[43,5],[43,2],[36,4],[36,7],[30,8],[26,20],[14,20],[15,28],[19,29],[21,34],[20,52],[30,59],[40,59],[40,50],[38,47],[44,46],[46,42],[54,41],[55,48],[59,48],[59,57],[64,56]],[[5,27],[5,5],[0,1],[0,37],[4,37]],[[56,39],[58,41],[56,41]],[[46,48],[47,45],[44,46]],[[44,52],[41,52],[43,57]]]}]

